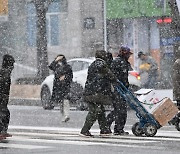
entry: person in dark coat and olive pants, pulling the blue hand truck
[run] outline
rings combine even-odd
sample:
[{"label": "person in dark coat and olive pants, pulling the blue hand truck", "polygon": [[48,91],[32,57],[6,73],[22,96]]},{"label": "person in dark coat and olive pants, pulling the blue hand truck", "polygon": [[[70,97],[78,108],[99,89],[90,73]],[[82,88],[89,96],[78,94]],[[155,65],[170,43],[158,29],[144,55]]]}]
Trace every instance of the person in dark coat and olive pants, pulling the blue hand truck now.
[{"label": "person in dark coat and olive pants, pulling the blue hand truck", "polygon": [[110,135],[107,127],[104,105],[111,103],[111,82],[116,82],[114,74],[106,63],[107,54],[104,50],[98,50],[96,60],[88,68],[88,76],[85,83],[84,100],[89,106],[85,123],[80,136],[93,137],[90,129],[98,120],[100,135]]}]

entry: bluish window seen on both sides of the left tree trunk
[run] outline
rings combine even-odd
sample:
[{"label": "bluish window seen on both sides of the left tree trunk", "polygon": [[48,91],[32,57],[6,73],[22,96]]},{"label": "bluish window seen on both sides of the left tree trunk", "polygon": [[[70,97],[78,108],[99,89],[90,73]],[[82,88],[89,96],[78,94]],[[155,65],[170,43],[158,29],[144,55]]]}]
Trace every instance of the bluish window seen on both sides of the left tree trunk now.
[{"label": "bluish window seen on both sides of the left tree trunk", "polygon": [[[49,46],[58,46],[60,41],[59,25],[60,2],[55,0],[46,14],[47,41]],[[27,5],[27,42],[29,46],[36,46],[36,9],[33,3]]]}]

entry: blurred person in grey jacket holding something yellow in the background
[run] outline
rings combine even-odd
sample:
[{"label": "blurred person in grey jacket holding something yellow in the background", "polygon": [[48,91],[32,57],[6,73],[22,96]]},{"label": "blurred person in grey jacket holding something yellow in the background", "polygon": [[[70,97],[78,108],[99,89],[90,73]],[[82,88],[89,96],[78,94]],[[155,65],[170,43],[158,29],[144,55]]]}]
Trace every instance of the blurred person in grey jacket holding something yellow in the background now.
[{"label": "blurred person in grey jacket holding something yellow in the background", "polygon": [[157,62],[149,55],[140,51],[138,53],[139,73],[141,76],[142,88],[155,88],[158,79],[158,65]]}]

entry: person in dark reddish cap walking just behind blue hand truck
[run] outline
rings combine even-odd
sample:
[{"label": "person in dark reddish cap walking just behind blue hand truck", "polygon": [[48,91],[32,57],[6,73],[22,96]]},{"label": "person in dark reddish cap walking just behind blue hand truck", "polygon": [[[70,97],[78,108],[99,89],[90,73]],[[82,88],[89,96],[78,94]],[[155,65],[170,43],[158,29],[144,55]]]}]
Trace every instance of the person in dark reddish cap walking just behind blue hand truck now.
[{"label": "person in dark reddish cap walking just behind blue hand truck", "polygon": [[[128,71],[131,68],[128,59],[131,55],[130,48],[122,46],[119,50],[118,57],[111,62],[111,71],[115,74],[116,78],[121,81],[126,88],[129,87]],[[113,98],[113,111],[107,115],[107,124],[110,128],[113,121],[115,121],[114,135],[128,135],[128,132],[124,131],[124,126],[127,119],[127,104],[126,101],[120,96],[116,90],[116,84],[114,85]]]}]

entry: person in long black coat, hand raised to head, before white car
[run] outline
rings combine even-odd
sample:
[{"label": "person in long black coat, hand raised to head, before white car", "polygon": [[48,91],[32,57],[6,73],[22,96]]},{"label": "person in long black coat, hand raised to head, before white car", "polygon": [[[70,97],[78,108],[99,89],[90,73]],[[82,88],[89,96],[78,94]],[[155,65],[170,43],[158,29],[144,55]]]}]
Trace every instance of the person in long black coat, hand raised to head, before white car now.
[{"label": "person in long black coat, hand raised to head, before white car", "polygon": [[53,102],[60,103],[60,109],[63,115],[62,122],[67,122],[70,119],[69,93],[73,79],[72,68],[67,64],[65,56],[61,54],[55,58],[55,60],[49,65],[49,68],[54,71],[54,82],[50,106],[47,106],[45,109],[53,109]]}]

